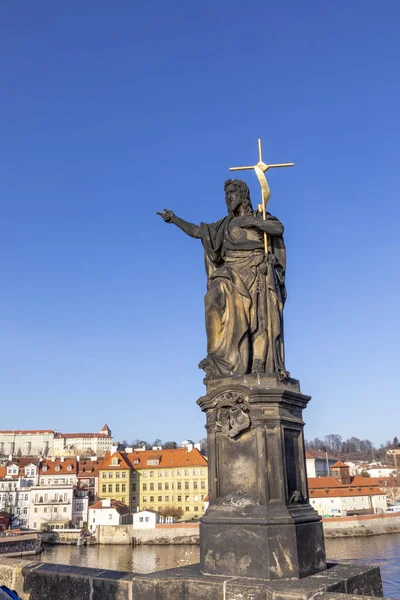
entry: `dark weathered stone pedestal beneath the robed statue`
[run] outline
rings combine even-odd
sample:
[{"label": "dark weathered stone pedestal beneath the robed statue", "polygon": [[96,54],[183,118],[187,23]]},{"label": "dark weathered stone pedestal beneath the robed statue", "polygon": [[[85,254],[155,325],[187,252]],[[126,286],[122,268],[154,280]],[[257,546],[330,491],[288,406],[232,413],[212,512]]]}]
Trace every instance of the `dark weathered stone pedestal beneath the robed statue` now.
[{"label": "dark weathered stone pedestal beneath the robed statue", "polygon": [[308,502],[302,411],[309,400],[294,379],[207,382],[198,400],[209,460],[203,574],[274,580],[326,569],[321,518]]}]

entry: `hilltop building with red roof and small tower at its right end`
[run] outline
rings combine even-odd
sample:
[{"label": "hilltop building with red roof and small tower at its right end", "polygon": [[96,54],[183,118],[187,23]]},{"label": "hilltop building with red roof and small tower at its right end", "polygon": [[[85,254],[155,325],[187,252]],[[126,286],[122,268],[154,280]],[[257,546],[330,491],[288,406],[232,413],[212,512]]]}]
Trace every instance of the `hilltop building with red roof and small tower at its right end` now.
[{"label": "hilltop building with red roof and small tower at its right end", "polygon": [[98,433],[57,433],[53,448],[57,456],[105,456],[112,444],[111,430],[104,425]]}]

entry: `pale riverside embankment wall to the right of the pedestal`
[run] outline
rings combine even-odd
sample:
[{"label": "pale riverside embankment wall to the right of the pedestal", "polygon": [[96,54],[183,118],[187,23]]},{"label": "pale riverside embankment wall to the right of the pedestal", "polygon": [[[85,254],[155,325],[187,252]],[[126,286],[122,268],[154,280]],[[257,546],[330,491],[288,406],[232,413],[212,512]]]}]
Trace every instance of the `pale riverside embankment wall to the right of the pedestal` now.
[{"label": "pale riverside embankment wall to the right of the pedestal", "polygon": [[331,517],[330,519],[322,519],[322,524],[326,538],[400,533],[400,514]]}]

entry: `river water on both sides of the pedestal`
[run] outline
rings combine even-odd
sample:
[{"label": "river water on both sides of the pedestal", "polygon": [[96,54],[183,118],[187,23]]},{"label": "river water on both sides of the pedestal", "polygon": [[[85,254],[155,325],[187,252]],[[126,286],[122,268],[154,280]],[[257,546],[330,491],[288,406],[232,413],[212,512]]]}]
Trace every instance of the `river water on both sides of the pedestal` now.
[{"label": "river water on both sides of the pedestal", "polygon": [[[385,596],[400,598],[400,533],[326,540],[328,560],[377,565]],[[199,562],[198,546],[47,546],[38,560],[151,573]]]}]

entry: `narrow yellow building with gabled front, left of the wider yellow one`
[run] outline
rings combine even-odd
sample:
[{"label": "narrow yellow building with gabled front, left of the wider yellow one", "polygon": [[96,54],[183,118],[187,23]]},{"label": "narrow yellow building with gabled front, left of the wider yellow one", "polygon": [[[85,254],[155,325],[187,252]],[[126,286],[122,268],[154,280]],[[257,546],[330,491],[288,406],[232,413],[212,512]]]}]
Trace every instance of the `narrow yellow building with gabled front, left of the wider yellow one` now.
[{"label": "narrow yellow building with gabled front, left of the wider yellow one", "polygon": [[99,468],[99,498],[130,504],[132,466],[125,452],[106,454]]}]

